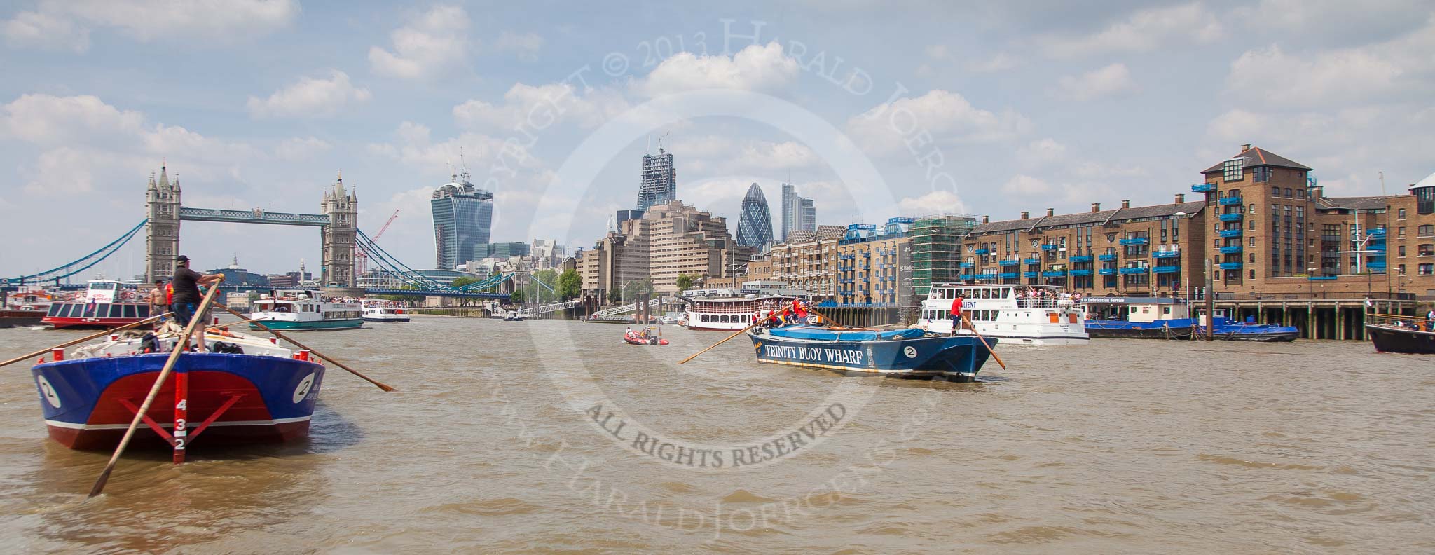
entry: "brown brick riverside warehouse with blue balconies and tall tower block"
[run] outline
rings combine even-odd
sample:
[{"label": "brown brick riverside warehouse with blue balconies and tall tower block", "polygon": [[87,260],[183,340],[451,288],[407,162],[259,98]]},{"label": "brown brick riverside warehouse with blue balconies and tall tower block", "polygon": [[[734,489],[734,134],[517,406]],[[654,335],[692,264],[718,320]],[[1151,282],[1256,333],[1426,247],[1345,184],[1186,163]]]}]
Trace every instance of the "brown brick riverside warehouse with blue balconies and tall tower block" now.
[{"label": "brown brick riverside warehouse with blue balconies and tall tower block", "polygon": [[1413,314],[1435,298],[1435,175],[1406,195],[1325,196],[1310,172],[1241,145],[1201,172],[1190,201],[983,217],[963,241],[960,277],[1182,298],[1200,297],[1210,261],[1218,308],[1310,338],[1363,338],[1368,300]]}]

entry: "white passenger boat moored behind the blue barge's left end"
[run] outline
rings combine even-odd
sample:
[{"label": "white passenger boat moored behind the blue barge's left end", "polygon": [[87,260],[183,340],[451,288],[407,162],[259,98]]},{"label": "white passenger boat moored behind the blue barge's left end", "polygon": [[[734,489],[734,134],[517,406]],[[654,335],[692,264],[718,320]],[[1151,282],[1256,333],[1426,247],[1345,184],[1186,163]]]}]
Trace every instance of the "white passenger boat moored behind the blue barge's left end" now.
[{"label": "white passenger boat moored behind the blue barge's left end", "polygon": [[792,288],[786,281],[743,281],[740,290],[687,290],[680,295],[687,301],[683,320],[689,330],[738,331],[761,316],[782,310],[788,303],[811,300],[805,290]]}]

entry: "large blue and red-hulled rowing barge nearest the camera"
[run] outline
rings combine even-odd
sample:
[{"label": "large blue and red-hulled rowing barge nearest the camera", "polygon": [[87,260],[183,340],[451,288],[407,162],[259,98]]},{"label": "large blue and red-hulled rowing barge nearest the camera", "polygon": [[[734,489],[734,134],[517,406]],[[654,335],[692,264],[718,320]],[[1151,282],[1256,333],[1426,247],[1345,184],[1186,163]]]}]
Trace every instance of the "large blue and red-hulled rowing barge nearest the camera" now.
[{"label": "large blue and red-hulled rowing barge nearest the camera", "polygon": [[[154,340],[154,338],[151,338]],[[184,353],[145,413],[154,433],[136,445],[185,449],[205,443],[291,442],[309,436],[324,366],[273,341],[208,334],[211,350]],[[224,344],[220,344],[220,343]],[[145,338],[119,338],[57,350],[56,360],[32,367],[50,439],[70,449],[113,449],[144,404],[174,348],[159,338],[161,353],[142,353]],[[177,392],[184,392],[177,402]],[[177,459],[178,460],[178,459]]]}]

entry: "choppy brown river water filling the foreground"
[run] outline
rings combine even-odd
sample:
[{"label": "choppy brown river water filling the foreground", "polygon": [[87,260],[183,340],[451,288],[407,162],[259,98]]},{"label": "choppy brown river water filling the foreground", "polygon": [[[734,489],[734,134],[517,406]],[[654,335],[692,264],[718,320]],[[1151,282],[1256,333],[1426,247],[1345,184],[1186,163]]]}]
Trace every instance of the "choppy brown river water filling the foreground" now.
[{"label": "choppy brown river water filling the foreground", "polygon": [[[758,364],[725,334],[420,317],[301,341],[311,439],[189,462],[46,439],[0,370],[4,552],[1435,552],[1435,357],[999,347],[982,383]],[[0,359],[77,337],[0,330]]]}]

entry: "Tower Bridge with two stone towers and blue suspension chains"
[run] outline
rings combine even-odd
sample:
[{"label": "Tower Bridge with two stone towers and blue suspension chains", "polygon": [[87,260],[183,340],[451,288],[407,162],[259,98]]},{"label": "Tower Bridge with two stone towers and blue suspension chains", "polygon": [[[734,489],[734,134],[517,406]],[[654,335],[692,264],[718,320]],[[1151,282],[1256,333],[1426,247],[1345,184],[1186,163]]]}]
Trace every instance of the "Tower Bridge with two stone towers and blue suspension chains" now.
[{"label": "Tower Bridge with two stone towers and blue suspension chains", "polygon": [[[119,238],[105,247],[80,257],[75,261],[60,264],[52,270],[39,271],[29,275],[0,278],[0,291],[22,284],[43,284],[59,288],[79,288],[80,285],[65,285],[66,280],[82,274],[100,261],[109,258],[121,247],[129,242],[139,229],[145,229],[145,281],[174,275],[174,261],[179,250],[179,227],[182,221],[197,222],[225,222],[225,224],[264,224],[264,225],[303,225],[319,228],[319,242],[323,265],[320,268],[320,284],[330,288],[344,288],[357,291],[356,252],[363,252],[369,260],[377,262],[380,271],[387,271],[392,277],[405,283],[409,288],[364,288],[364,294],[406,294],[425,297],[478,297],[507,300],[508,294],[497,293],[498,287],[512,280],[512,274],[501,274],[464,287],[452,287],[420,274],[396,257],[383,251],[373,239],[359,229],[359,195],[344,189],[343,175],[324,189],[320,201],[320,214],[273,212],[260,208],[254,209],[218,209],[185,207],[184,191],[179,186],[179,176],[169,176],[168,168],[159,168],[159,176],[149,176],[145,189],[146,218]],[[221,288],[228,290],[230,285]],[[244,287],[234,287],[244,290]]]}]

